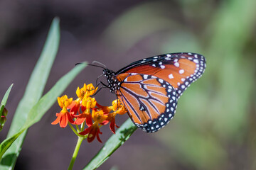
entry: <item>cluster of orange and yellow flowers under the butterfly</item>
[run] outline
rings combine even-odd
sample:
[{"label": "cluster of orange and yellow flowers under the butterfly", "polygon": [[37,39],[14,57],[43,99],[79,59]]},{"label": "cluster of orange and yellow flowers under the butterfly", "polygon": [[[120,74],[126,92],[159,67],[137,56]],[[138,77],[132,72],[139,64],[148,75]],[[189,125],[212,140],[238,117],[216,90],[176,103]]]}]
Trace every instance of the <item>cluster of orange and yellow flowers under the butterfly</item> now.
[{"label": "cluster of orange and yellow flowers under the butterfly", "polygon": [[[59,123],[61,128],[69,124],[77,135],[87,137],[88,142],[92,142],[95,137],[102,142],[99,136],[102,134],[100,128],[107,123],[110,123],[110,130],[115,133],[115,127],[119,128],[115,124],[115,116],[123,115],[127,110],[118,99],[112,101],[112,106],[101,106],[91,97],[96,91],[97,88],[92,84],[84,84],[81,89],[78,87],[76,91],[78,98],[75,101],[67,95],[58,97],[58,104],[62,110],[56,113],[57,118],[52,124]],[[71,124],[77,126],[77,131]],[[78,125],[81,125],[81,128],[78,128]]]}]

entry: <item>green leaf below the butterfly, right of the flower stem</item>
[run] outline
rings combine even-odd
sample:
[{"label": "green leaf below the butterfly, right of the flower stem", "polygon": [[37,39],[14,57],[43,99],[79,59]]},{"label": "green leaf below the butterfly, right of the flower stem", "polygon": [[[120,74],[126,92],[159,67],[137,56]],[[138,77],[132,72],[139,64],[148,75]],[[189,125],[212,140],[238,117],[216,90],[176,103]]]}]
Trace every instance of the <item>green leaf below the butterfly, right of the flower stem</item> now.
[{"label": "green leaf below the butterfly, right of the flower stem", "polygon": [[130,119],[125,121],[125,123],[117,130],[115,135],[112,135],[105,145],[100,149],[100,151],[95,155],[94,158],[85,166],[84,170],[97,169],[101,164],[103,164],[112,153],[125,141],[129,139],[132,133],[137,130],[137,127],[132,123]]}]

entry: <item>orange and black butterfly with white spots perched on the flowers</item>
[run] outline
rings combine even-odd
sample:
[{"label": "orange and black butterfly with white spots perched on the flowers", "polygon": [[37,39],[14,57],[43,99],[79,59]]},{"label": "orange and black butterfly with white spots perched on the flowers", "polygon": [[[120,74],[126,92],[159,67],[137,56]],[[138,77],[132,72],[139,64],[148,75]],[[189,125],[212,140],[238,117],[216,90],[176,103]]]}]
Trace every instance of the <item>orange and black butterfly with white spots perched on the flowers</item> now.
[{"label": "orange and black butterfly with white spots perched on the flowers", "polygon": [[117,72],[103,69],[103,75],[134,125],[156,132],[174,117],[178,98],[205,69],[203,55],[180,52],[132,62]]}]

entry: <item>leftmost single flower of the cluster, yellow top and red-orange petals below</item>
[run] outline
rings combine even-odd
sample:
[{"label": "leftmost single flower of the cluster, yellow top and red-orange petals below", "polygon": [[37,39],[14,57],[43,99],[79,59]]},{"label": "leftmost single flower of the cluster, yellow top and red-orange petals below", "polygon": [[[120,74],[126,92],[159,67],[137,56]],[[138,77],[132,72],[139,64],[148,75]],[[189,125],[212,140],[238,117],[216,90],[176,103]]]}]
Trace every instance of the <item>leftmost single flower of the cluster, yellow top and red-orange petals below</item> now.
[{"label": "leftmost single flower of the cluster, yellow top and red-orange petals below", "polygon": [[73,115],[73,112],[68,112],[67,107],[70,106],[72,103],[73,98],[68,98],[67,95],[62,96],[61,98],[58,97],[58,104],[60,108],[62,108],[62,111],[60,113],[56,113],[57,118],[51,123],[52,125],[56,125],[60,123],[61,128],[65,128],[68,125],[68,121],[70,123],[74,123],[73,119],[71,118],[71,115]]}]

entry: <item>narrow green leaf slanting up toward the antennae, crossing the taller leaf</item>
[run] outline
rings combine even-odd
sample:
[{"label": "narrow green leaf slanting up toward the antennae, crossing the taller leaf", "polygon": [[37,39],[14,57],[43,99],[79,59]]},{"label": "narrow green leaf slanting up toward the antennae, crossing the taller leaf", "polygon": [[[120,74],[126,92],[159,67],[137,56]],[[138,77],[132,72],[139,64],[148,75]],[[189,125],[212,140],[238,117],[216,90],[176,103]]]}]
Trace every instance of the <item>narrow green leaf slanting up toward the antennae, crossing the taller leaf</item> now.
[{"label": "narrow green leaf slanting up toward the antennae, crossing the taller leaf", "polygon": [[[46,95],[44,95],[38,103],[36,103],[35,106],[31,109],[31,111],[28,113],[28,119],[26,120],[26,123],[23,125],[21,130],[18,130],[16,134],[12,135],[11,137],[8,137],[4,142],[1,142],[0,145],[0,157],[4,154],[6,149],[8,149],[11,144],[18,138],[19,135],[21,135],[22,132],[26,131],[31,125],[34,123],[37,123],[43,115],[48,111],[48,109],[53,106],[53,103],[56,102],[57,97],[60,96],[63,91],[66,89],[68,84],[70,84],[71,81],[82,71],[82,69],[85,68],[87,64],[79,64],[74,69],[72,69],[68,74],[65,74]],[[14,157],[15,153],[9,155],[5,155],[1,161],[1,169],[9,169],[9,162],[10,158]]]}]

